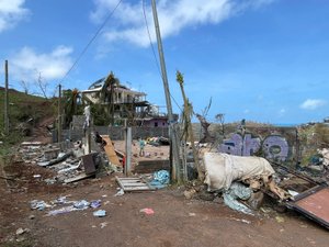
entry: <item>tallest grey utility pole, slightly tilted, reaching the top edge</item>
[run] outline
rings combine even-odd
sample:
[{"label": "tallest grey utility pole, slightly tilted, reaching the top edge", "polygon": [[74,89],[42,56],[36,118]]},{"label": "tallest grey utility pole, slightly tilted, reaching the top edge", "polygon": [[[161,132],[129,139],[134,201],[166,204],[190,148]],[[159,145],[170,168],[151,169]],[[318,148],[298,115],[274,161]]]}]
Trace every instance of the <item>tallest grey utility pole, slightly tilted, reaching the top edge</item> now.
[{"label": "tallest grey utility pole, slightly tilted, reaching the top edge", "polygon": [[164,55],[163,55],[163,49],[162,49],[162,42],[161,42],[161,34],[160,34],[160,26],[159,26],[159,21],[158,21],[156,1],[151,0],[151,3],[152,3],[155,27],[156,27],[156,33],[157,33],[158,50],[159,50],[159,58],[160,58],[161,72],[162,72],[162,81],[163,81],[166,102],[167,102],[171,149],[172,149],[172,155],[173,155],[171,173],[172,173],[172,180],[181,182],[180,145],[178,143],[177,130],[174,128],[174,121],[173,121],[173,115],[172,115],[172,106],[171,106],[171,100],[170,100],[167,69],[166,69]]}]

